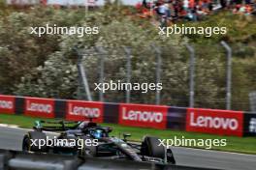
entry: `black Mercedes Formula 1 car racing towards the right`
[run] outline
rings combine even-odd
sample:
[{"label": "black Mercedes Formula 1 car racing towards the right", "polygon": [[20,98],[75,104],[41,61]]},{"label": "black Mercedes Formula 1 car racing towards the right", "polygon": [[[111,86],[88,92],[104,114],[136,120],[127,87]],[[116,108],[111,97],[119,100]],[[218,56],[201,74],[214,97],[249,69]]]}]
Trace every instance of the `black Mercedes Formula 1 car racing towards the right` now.
[{"label": "black Mercedes Formula 1 car racing towards the right", "polygon": [[[54,133],[50,133],[51,131]],[[112,128],[92,122],[36,121],[23,137],[23,152],[69,154],[82,158],[101,157],[176,164],[171,149],[160,145],[157,137],[144,136],[141,143],[110,136]],[[52,137],[52,134],[56,136]],[[50,141],[50,142],[49,142]]]}]

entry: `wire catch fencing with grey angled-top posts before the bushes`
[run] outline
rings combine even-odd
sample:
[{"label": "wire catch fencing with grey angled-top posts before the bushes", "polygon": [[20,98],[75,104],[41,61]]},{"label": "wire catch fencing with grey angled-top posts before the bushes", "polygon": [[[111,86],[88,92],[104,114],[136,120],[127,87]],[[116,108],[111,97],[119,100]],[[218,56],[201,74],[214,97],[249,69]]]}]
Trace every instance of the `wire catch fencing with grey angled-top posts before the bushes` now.
[{"label": "wire catch fencing with grey angled-top posts before the bushes", "polygon": [[[182,51],[177,52],[178,51]],[[168,104],[182,107],[249,110],[249,79],[234,76],[241,68],[239,49],[227,42],[214,45],[94,46],[76,50],[79,58],[79,93],[74,99]],[[212,55],[214,56],[212,56]],[[239,71],[240,72],[240,71]],[[241,77],[242,78],[242,77]],[[94,83],[162,83],[162,90],[95,90]],[[246,83],[245,83],[246,82]],[[52,97],[52,96],[51,96]],[[55,97],[58,98],[58,97]]]}]

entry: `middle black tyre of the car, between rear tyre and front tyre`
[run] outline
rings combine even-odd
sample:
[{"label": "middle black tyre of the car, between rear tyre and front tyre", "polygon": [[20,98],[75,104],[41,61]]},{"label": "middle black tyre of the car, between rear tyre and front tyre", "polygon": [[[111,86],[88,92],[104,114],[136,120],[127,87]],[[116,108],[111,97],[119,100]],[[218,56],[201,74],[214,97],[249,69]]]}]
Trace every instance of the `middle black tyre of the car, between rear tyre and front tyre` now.
[{"label": "middle black tyre of the car, between rear tyre and front tyre", "polygon": [[80,145],[81,147],[79,148],[79,156],[83,158],[97,156],[97,146],[86,145],[86,142],[85,142],[90,140],[91,142],[89,143],[93,143],[93,139],[86,136],[82,136],[80,137],[80,139],[83,143],[82,145]]}]

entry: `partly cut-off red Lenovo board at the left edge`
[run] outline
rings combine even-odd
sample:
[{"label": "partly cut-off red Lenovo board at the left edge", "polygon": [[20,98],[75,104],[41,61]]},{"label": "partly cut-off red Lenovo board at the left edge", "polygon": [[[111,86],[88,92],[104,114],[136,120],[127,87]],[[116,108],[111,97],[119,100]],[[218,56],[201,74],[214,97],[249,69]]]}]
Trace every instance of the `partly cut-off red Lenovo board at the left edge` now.
[{"label": "partly cut-off red Lenovo board at the left edge", "polygon": [[15,97],[0,95],[0,113],[15,113]]}]

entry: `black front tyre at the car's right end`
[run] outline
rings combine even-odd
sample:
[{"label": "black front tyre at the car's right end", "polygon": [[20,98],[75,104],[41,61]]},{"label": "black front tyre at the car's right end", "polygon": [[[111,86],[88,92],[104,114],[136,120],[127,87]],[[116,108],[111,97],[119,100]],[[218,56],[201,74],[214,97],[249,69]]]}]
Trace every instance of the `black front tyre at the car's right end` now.
[{"label": "black front tyre at the car's right end", "polygon": [[142,155],[165,158],[165,147],[159,144],[158,137],[145,136],[142,143]]}]

